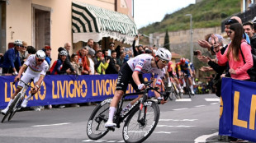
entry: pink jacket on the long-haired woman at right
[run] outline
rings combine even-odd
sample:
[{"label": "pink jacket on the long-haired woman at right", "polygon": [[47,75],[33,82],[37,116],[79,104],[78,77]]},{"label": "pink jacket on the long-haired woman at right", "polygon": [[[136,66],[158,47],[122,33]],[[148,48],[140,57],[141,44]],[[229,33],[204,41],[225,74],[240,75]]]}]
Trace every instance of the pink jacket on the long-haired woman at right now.
[{"label": "pink jacket on the long-haired woman at right", "polygon": [[[220,51],[216,54],[218,63],[224,64],[225,62],[228,61],[228,58],[226,58],[226,54],[229,48],[230,48],[230,44],[228,48],[225,49],[225,53],[223,55],[221,55]],[[236,74],[231,74],[231,78],[234,78],[237,80],[248,80],[250,79],[250,77],[247,73],[247,70],[249,70],[249,68],[254,66],[253,57],[251,53],[251,46],[246,42],[242,41],[241,49],[244,54],[244,60],[243,60],[242,54],[239,53],[240,61],[235,61],[233,59],[233,55],[231,54],[232,51],[230,51],[230,61],[229,61],[230,69],[231,68],[234,69],[236,73]],[[244,64],[244,61],[246,62],[245,64]]]}]

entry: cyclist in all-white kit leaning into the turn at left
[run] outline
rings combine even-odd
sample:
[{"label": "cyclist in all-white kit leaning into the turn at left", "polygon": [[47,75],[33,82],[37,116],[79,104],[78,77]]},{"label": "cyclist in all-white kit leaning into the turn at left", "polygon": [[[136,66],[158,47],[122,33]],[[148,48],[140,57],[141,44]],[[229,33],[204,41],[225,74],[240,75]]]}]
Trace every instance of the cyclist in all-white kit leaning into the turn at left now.
[{"label": "cyclist in all-white kit leaning into the turn at left", "polygon": [[[19,81],[19,79],[21,79],[21,81],[24,81],[25,83],[29,83],[33,79],[36,86],[31,90],[31,94],[28,95],[26,99],[24,99],[24,101],[21,104],[21,107],[23,108],[26,107],[26,104],[28,100],[31,98],[31,96],[35,95],[36,92],[39,90],[39,87],[45,78],[45,74],[48,68],[49,68],[48,63],[45,61],[45,52],[42,50],[37,51],[36,54],[31,54],[31,56],[29,56],[26,59],[26,62],[24,62],[24,64],[22,65],[14,81],[16,82],[16,81]],[[21,77],[23,71],[25,71],[25,73]],[[23,88],[24,83],[21,81],[18,82],[17,90],[15,90],[14,94],[12,95],[11,100],[7,105],[7,108],[4,108],[1,111],[2,114],[7,113],[9,106],[12,104],[14,97]]]}]

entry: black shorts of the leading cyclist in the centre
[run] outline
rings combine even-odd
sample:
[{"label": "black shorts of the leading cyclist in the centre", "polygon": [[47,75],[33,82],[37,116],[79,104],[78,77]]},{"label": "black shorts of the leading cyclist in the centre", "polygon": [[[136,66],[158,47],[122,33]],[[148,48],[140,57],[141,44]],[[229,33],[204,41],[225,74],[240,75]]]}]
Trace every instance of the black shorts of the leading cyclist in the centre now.
[{"label": "black shorts of the leading cyclist in the centre", "polygon": [[[132,71],[126,62],[118,72],[117,82],[116,82],[116,90],[122,90],[124,93],[126,93],[126,89],[128,87],[128,84],[130,83],[133,87],[133,89],[136,92],[140,92],[138,89],[138,86],[135,84],[135,81],[133,81],[132,78]],[[139,74],[140,83],[145,83],[144,78],[142,74]]]}]

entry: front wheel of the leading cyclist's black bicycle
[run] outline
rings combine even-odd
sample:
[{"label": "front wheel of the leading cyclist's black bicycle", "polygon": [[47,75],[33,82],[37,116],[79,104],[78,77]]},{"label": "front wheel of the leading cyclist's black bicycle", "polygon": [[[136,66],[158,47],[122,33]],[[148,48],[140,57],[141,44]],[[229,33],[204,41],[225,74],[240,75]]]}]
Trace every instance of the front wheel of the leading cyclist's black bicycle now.
[{"label": "front wheel of the leading cyclist's black bicycle", "polygon": [[[126,143],[139,143],[145,141],[158,124],[160,116],[159,105],[150,100],[146,101],[145,105],[146,106],[141,111],[139,121],[139,104],[135,106],[126,119],[122,131],[123,139]],[[146,118],[144,118],[145,113]]]}]

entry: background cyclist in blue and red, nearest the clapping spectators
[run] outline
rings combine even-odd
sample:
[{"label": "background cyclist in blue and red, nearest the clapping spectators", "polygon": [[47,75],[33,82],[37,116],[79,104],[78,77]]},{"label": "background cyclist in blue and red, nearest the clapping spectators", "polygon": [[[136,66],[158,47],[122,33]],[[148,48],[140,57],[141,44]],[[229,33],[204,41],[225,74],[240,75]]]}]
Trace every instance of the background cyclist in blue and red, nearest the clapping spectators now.
[{"label": "background cyclist in blue and red, nearest the clapping spectators", "polygon": [[[178,64],[178,76],[181,77],[182,76],[182,72],[187,74],[187,79],[189,81],[189,85],[190,85],[190,89],[191,89],[191,93],[192,95],[195,95],[194,90],[193,90],[193,85],[192,85],[192,71],[190,68],[189,63],[186,61],[185,58],[181,58],[180,62]],[[184,82],[185,83],[185,82]]]}]

